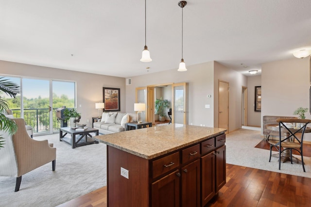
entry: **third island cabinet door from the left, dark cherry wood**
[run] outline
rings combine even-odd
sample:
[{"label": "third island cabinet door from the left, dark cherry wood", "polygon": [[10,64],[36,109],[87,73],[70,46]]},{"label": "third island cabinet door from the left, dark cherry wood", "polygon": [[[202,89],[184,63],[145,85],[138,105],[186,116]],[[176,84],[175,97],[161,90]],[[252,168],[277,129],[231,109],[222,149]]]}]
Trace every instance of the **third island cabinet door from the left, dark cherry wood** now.
[{"label": "third island cabinet door from the left, dark cherry wood", "polygon": [[202,206],[205,206],[207,202],[215,195],[215,152],[212,151],[209,154],[201,157],[202,166]]}]

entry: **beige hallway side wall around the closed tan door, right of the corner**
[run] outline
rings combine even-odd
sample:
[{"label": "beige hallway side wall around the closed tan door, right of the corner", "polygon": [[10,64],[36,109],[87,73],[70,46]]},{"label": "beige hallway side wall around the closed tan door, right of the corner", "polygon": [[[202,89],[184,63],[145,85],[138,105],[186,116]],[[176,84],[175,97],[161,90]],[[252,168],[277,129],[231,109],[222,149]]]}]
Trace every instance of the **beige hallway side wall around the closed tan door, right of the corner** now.
[{"label": "beige hallway side wall around the closed tan door, right of the corner", "polygon": [[214,62],[214,126],[218,127],[218,81],[229,82],[229,128],[233,131],[242,126],[242,86],[247,86],[247,77]]}]

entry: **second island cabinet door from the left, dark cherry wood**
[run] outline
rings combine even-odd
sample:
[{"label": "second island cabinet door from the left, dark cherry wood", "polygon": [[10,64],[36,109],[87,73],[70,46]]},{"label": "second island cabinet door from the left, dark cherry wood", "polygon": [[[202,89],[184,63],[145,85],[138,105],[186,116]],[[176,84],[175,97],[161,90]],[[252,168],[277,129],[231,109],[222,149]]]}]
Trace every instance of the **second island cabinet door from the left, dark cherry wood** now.
[{"label": "second island cabinet door from the left, dark cherry wood", "polygon": [[200,206],[200,160],[181,168],[182,207]]}]

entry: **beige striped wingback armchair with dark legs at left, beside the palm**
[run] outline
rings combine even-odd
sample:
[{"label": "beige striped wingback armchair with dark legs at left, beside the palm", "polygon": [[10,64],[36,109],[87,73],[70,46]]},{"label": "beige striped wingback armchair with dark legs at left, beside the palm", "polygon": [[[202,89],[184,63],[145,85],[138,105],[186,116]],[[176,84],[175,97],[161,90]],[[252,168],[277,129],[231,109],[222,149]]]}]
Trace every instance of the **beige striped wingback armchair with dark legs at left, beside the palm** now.
[{"label": "beige striped wingback armchair with dark legs at left, beside the palm", "polygon": [[56,148],[47,140],[31,139],[24,119],[13,120],[17,124],[13,136],[0,131],[5,141],[0,149],[0,176],[16,177],[15,191],[19,191],[22,175],[51,161],[52,170],[55,170]]}]

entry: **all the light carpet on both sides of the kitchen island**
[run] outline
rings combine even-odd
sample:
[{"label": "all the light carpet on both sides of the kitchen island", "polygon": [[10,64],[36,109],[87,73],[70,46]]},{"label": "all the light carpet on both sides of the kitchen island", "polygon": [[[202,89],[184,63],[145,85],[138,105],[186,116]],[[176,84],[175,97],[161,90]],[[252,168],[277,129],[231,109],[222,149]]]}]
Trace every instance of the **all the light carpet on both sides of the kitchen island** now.
[{"label": "all the light carpet on both sides of the kitchen island", "polygon": [[[106,145],[91,144],[75,149],[59,142],[58,134],[35,137],[48,139],[57,148],[56,171],[48,163],[22,176],[20,190],[14,192],[16,178],[0,177],[0,207],[54,207],[106,185]],[[311,158],[301,164],[269,162],[269,150],[255,148],[260,131],[239,129],[226,135],[226,162],[278,173],[311,177]]]}]

